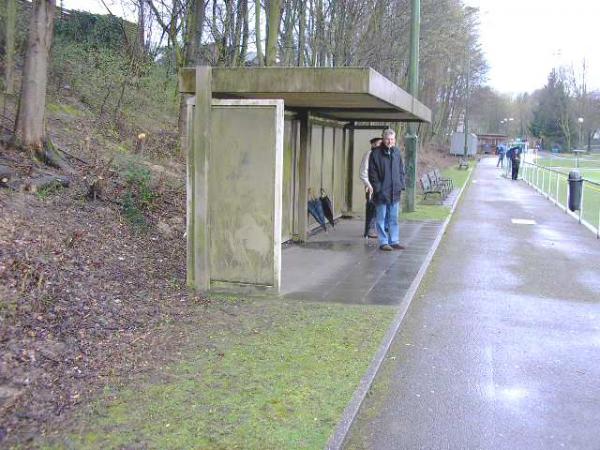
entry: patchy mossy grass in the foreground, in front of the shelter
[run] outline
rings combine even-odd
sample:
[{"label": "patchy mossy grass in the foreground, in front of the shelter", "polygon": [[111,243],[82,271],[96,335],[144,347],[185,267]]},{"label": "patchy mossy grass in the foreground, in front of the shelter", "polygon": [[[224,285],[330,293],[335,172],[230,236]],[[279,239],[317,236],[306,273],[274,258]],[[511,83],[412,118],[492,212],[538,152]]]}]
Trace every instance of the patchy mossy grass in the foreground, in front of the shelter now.
[{"label": "patchy mossy grass in the foreground, in front of the shelter", "polygon": [[[211,305],[213,307],[215,305]],[[107,389],[48,448],[322,448],[394,308],[230,299],[177,363]]]}]

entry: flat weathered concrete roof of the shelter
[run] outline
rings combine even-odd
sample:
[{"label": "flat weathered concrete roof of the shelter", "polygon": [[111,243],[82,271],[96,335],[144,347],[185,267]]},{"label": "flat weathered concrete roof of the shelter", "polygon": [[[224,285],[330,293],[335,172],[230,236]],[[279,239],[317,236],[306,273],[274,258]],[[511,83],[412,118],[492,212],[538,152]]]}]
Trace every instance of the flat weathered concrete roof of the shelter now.
[{"label": "flat weathered concrete roof of the shelter", "polygon": [[[179,90],[194,94],[195,68],[184,68]],[[371,68],[212,68],[213,98],[283,99],[286,109],[309,109],[347,122],[431,122],[431,111]]]}]

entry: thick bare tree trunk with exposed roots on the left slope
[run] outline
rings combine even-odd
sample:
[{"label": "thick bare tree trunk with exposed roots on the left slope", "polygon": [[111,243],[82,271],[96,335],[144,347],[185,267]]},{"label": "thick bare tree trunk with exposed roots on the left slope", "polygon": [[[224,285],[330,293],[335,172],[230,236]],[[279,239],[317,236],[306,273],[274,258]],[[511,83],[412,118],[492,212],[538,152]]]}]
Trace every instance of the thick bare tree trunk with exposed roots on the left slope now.
[{"label": "thick bare tree trunk with exposed roots on the left slope", "polygon": [[46,160],[46,86],[56,0],[34,0],[14,142]]}]

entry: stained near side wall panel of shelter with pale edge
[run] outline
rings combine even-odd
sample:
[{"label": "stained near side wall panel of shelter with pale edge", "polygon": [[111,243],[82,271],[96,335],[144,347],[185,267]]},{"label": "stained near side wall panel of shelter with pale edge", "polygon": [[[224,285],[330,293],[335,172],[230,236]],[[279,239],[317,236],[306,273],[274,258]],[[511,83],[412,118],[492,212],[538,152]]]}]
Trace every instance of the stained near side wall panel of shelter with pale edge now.
[{"label": "stained near side wall panel of shelter with pale edge", "polygon": [[278,290],[283,102],[213,101],[211,123],[211,289],[244,284]]}]

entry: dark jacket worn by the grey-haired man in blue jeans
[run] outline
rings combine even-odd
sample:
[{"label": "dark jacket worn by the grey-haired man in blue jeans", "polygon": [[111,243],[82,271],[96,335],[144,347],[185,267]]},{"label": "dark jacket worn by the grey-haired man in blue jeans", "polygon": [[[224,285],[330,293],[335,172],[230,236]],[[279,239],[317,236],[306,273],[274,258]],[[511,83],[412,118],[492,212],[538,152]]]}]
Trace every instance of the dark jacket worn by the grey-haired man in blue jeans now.
[{"label": "dark jacket worn by the grey-haired man in blue jeans", "polygon": [[371,152],[369,158],[369,182],[373,186],[373,201],[396,203],[404,190],[404,163],[398,147],[381,146]]}]

